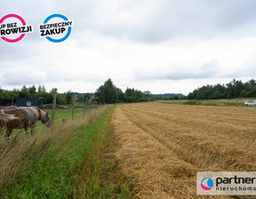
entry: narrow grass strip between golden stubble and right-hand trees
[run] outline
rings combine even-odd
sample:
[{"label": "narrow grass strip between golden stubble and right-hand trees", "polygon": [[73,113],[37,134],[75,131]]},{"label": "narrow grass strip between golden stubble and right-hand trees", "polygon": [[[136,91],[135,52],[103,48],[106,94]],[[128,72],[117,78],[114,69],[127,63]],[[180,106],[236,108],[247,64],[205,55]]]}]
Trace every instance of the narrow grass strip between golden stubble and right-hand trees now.
[{"label": "narrow grass strip between golden stubble and right-hand trees", "polygon": [[215,107],[243,107],[244,102],[252,99],[228,99],[228,100],[159,100],[163,104],[200,105]]}]

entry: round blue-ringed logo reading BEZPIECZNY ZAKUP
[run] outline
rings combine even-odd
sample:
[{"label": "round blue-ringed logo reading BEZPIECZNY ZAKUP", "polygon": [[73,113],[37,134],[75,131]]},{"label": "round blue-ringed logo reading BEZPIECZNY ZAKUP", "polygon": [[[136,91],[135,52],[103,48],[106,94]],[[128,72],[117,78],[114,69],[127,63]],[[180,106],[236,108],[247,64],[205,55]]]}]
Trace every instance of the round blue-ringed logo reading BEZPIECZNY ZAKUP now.
[{"label": "round blue-ringed logo reading BEZPIECZNY ZAKUP", "polygon": [[53,43],[61,43],[68,39],[73,25],[72,20],[62,14],[48,16],[43,24],[39,25],[40,36]]}]

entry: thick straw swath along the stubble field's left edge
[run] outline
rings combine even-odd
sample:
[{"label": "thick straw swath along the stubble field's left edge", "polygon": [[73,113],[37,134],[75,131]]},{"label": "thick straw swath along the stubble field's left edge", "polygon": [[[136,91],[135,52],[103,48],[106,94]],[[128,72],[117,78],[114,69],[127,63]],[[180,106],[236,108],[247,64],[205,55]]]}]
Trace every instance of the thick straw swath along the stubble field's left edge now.
[{"label": "thick straw swath along the stubble field's left edge", "polygon": [[[136,179],[134,196],[138,198],[177,198],[173,181],[196,175],[196,168],[180,161],[168,147],[131,123],[117,107],[113,115],[116,133],[116,158],[131,179]],[[191,187],[187,181],[181,187]],[[195,195],[187,189],[187,195]]]}]

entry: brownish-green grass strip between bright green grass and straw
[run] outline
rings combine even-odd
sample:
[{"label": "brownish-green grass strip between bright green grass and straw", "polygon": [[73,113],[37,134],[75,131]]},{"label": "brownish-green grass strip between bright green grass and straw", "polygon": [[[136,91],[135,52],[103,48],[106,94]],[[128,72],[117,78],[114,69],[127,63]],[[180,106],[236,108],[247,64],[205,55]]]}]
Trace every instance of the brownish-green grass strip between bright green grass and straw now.
[{"label": "brownish-green grass strip between bright green grass and straw", "polygon": [[77,172],[79,186],[74,195],[76,198],[131,198],[134,184],[117,165],[113,126],[109,117],[102,122],[104,125],[100,127],[105,126],[104,133],[92,139],[92,150],[84,155]]}]

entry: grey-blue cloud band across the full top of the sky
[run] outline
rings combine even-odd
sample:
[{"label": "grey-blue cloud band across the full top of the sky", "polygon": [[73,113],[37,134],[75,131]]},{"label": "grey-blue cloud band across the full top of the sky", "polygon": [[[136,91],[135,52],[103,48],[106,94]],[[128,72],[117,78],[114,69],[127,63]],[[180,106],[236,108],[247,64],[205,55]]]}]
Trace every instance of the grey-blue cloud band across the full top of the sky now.
[{"label": "grey-blue cloud band across the full top of the sky", "polygon": [[[215,36],[252,36],[256,2],[221,0],[95,0],[12,1],[1,13],[18,12],[38,31],[37,25],[53,12],[75,21],[74,33],[127,38],[135,43],[156,44],[182,37],[211,39]],[[243,33],[243,34],[242,34]],[[37,38],[33,34],[30,38]]]}]

